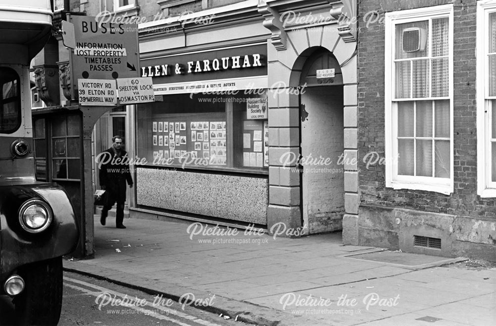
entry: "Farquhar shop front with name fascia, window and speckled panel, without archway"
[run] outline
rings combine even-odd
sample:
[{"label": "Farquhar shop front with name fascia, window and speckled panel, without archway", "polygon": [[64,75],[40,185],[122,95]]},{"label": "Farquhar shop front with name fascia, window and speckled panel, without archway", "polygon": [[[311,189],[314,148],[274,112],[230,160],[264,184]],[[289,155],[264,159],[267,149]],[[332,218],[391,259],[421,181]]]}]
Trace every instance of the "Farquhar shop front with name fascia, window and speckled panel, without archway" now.
[{"label": "Farquhar shop front with name fascia, window and speckled panel, without archway", "polygon": [[266,49],[141,60],[162,101],[135,111],[137,214],[267,224]]}]

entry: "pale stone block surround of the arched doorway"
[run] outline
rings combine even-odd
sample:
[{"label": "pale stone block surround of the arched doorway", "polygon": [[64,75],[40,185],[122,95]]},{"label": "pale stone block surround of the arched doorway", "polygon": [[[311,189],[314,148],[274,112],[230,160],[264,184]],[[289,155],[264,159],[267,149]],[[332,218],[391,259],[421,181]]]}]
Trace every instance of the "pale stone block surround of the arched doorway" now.
[{"label": "pale stone block surround of the arched doorway", "polygon": [[[281,32],[281,30],[276,30]],[[317,48],[331,52],[343,76],[343,147],[344,172],[343,239],[358,243],[358,150],[357,150],[357,57],[356,41],[345,42],[336,29],[320,28],[283,31],[286,46],[268,41],[269,108],[269,207],[267,227],[283,222],[288,229],[301,230],[288,236],[308,233],[304,230],[301,209],[301,180],[294,164],[283,164],[289,155],[300,155],[300,96],[298,87],[302,69]],[[273,32],[274,35],[274,32]],[[296,90],[296,91],[295,91]]]}]

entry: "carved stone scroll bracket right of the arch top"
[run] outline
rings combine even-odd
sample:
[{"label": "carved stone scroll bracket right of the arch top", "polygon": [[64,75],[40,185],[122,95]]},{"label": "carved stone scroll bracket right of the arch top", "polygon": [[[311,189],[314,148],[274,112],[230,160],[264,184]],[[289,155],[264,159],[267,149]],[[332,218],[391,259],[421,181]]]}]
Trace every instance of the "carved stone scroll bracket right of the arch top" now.
[{"label": "carved stone scroll bracket right of the arch top", "polygon": [[338,34],[344,42],[357,41],[357,0],[327,0],[330,14],[338,20]]}]

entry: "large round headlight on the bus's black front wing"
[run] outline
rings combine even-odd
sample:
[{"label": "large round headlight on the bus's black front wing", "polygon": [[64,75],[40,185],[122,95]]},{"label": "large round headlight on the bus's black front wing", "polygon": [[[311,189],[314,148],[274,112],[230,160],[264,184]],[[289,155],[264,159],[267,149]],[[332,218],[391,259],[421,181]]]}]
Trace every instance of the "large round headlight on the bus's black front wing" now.
[{"label": "large round headlight on the bus's black front wing", "polygon": [[19,222],[30,233],[46,230],[52,223],[50,207],[39,199],[25,202],[19,210]]}]

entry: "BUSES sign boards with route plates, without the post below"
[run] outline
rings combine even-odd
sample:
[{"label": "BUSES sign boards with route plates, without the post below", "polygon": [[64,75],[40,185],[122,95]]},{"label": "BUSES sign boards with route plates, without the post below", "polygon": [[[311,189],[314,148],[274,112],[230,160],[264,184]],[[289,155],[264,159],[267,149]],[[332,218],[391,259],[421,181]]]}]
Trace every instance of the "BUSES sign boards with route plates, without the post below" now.
[{"label": "BUSES sign boards with route plates, without the post below", "polygon": [[117,106],[155,101],[152,78],[138,78],[136,24],[104,23],[91,16],[70,16],[70,22],[75,39],[72,76],[77,81],[80,105]]}]

